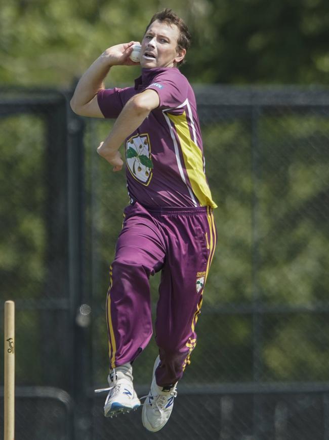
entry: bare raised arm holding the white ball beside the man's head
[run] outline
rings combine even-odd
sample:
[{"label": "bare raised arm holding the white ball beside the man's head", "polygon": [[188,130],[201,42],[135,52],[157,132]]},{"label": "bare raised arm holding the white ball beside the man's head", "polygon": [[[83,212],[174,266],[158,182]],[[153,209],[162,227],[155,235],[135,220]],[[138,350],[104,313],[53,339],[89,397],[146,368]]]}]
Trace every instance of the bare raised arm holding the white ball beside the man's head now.
[{"label": "bare raised arm holding the white ball beside the man's head", "polygon": [[113,65],[136,65],[129,55],[136,42],[118,44],[105,50],[80,78],[70,101],[71,109],[80,116],[103,118],[97,93],[104,89],[104,79]]}]

